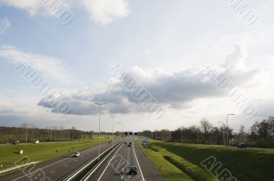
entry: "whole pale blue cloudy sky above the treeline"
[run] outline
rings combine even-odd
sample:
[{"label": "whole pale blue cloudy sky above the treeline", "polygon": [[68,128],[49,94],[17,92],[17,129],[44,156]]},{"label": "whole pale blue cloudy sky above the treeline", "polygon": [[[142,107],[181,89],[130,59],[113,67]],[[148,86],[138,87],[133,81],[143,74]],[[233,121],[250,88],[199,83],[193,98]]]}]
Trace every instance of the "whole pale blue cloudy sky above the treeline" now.
[{"label": "whole pale blue cloudy sky above the treeline", "polygon": [[[141,131],[199,125],[202,118],[220,126],[234,113],[229,126],[248,131],[273,115],[274,1],[52,2],[0,0],[0,126],[98,131],[95,102],[106,103],[102,131],[112,130],[110,116],[123,130]],[[68,113],[18,71],[25,65],[62,97]],[[157,102],[159,116],[112,74],[117,67]],[[249,102],[252,117],[210,79],[208,67]]]}]

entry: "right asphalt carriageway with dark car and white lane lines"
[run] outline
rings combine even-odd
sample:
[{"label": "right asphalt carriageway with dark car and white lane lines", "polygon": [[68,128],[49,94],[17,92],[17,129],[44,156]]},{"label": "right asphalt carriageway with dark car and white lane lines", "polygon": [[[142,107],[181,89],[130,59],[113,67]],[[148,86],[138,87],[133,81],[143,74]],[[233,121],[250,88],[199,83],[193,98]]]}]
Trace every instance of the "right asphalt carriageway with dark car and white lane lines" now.
[{"label": "right asphalt carriageway with dark car and white lane lines", "polygon": [[[127,142],[132,142],[132,147],[127,147],[127,144],[119,146],[118,150],[114,151],[114,154],[103,163],[90,180],[164,181],[142,150],[138,148],[136,139],[132,138]],[[129,175],[127,173],[129,166],[137,166],[138,174]]]}]

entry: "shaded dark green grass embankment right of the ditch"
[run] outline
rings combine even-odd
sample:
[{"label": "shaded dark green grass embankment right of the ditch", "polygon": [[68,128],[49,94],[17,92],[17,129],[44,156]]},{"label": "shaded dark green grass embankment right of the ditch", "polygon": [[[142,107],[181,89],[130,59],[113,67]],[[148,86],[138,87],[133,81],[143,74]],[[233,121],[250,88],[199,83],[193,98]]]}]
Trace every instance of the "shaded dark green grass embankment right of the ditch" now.
[{"label": "shaded dark green grass embankment right of the ditch", "polygon": [[[270,181],[274,178],[274,150],[253,150],[221,146],[166,143],[149,140],[150,146],[159,152],[170,152],[192,165],[201,167],[201,162],[210,156],[222,163],[240,181]],[[182,163],[183,164],[183,163]]]}]

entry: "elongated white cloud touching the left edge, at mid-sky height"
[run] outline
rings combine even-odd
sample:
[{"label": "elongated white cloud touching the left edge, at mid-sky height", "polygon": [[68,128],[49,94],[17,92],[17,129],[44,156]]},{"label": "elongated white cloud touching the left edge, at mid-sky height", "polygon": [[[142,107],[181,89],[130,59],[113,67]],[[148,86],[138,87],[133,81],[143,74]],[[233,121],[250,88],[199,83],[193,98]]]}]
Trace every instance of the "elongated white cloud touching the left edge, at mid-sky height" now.
[{"label": "elongated white cloud touching the left edge, at mid-sky height", "polygon": [[38,55],[34,53],[27,53],[15,46],[0,47],[0,57],[16,64],[27,63],[35,71],[38,71],[41,76],[47,76],[52,80],[69,82],[72,77],[62,60],[55,57],[48,57],[46,55]]}]

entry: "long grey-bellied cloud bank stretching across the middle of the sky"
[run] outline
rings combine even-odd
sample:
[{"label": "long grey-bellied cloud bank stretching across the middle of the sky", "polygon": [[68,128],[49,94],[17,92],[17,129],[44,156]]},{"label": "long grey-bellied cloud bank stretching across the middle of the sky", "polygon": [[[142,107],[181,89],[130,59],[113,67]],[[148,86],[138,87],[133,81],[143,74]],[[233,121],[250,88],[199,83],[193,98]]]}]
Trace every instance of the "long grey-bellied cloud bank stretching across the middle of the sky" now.
[{"label": "long grey-bellied cloud bank stretching across the middle of the sky", "polygon": [[[242,46],[242,48],[244,48]],[[261,76],[260,69],[249,70],[245,67],[242,50],[236,46],[234,52],[229,55],[225,64],[227,68],[216,66],[219,72],[232,81],[237,87],[255,87],[259,84],[250,84]],[[233,56],[232,56],[233,55]],[[235,66],[240,62],[245,68]],[[230,64],[229,64],[230,63]],[[195,104],[195,100],[201,98],[225,97],[225,94],[215,87],[202,70],[205,66],[188,68],[177,72],[164,72],[163,70],[143,70],[134,67],[128,72],[139,85],[160,103],[161,106],[171,109],[188,109]],[[103,89],[102,89],[103,87]],[[118,81],[110,79],[103,85],[92,88],[80,89],[71,95],[66,95],[66,100],[71,102],[72,114],[88,115],[98,111],[87,102],[108,102],[104,106],[109,113],[136,113],[145,111],[132,97],[132,92],[127,92]],[[48,107],[47,100],[43,99],[39,105]],[[80,109],[81,108],[81,109]],[[79,111],[77,111],[79,110]],[[86,111],[85,111],[86,110]],[[97,110],[97,109],[96,109]],[[52,110],[54,111],[54,110]]]}]

